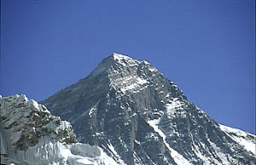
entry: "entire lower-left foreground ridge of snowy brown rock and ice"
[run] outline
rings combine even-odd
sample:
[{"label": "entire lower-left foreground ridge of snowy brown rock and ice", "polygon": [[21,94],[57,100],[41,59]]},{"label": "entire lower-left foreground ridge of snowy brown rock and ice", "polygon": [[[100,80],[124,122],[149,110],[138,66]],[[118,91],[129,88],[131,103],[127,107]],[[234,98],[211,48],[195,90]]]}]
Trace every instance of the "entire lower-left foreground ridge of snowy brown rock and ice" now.
[{"label": "entire lower-left foreground ridge of snowy brown rock and ice", "polygon": [[0,100],[1,164],[117,164],[98,146],[76,143],[69,122],[15,95]]}]

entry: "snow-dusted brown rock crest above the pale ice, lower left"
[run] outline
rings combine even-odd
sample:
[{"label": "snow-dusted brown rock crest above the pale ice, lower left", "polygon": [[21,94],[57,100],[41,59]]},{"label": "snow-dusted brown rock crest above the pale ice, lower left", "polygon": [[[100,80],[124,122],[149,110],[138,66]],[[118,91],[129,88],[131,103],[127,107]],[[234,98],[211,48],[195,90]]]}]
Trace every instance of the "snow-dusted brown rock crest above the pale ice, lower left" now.
[{"label": "snow-dusted brown rock crest above the pale ice, lower left", "polygon": [[63,143],[76,142],[69,122],[50,114],[44,105],[28,100],[26,95],[14,95],[0,100],[1,124],[16,150],[37,145],[40,137],[49,136]]}]

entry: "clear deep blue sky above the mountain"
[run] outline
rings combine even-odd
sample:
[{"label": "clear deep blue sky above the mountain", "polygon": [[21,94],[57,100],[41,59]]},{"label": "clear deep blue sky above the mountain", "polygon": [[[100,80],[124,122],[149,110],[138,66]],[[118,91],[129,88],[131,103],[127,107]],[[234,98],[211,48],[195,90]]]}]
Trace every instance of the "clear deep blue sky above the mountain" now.
[{"label": "clear deep blue sky above the mountain", "polygon": [[2,0],[1,92],[44,100],[117,52],[255,134],[253,0]]}]

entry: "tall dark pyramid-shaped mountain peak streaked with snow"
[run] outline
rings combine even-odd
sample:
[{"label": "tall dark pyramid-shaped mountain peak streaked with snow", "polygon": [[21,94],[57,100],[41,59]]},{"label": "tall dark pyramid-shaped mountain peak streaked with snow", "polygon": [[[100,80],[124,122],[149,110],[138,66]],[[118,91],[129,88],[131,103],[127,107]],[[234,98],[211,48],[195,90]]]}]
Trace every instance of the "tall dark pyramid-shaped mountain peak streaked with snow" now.
[{"label": "tall dark pyramid-shaped mountain peak streaked with snow", "polygon": [[42,103],[73,124],[80,142],[102,146],[119,163],[256,162],[146,61],[113,54]]}]

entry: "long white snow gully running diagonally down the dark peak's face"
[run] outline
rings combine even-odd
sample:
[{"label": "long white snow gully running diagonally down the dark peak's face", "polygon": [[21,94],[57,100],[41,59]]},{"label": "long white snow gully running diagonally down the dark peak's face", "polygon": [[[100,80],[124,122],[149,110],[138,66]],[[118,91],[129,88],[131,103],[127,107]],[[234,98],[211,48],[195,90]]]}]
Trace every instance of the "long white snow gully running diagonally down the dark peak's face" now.
[{"label": "long white snow gully running diagonally down the dark peak's face", "polygon": [[160,128],[158,127],[159,122],[160,122],[160,118],[159,119],[150,120],[150,121],[148,121],[148,124],[152,128],[154,128],[154,131],[157,132],[163,138],[164,144],[166,145],[167,149],[169,151],[171,151],[171,156],[172,156],[174,162],[176,162],[177,164],[191,165],[187,159],[185,159],[177,151],[172,149],[172,147],[167,143],[167,141],[166,141],[166,134],[164,134],[162,132],[162,130],[160,130]]}]

